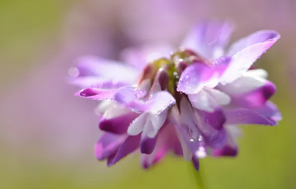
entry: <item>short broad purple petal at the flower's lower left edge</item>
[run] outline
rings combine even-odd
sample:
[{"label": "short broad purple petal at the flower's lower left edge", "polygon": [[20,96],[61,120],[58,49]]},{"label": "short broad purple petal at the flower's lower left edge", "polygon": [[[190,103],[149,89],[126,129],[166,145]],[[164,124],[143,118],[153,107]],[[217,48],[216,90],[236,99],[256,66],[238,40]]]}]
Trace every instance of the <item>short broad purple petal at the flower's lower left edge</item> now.
[{"label": "short broad purple petal at the flower's lower left edge", "polygon": [[98,160],[107,159],[116,153],[125,140],[124,135],[104,133],[95,145],[95,157]]}]

